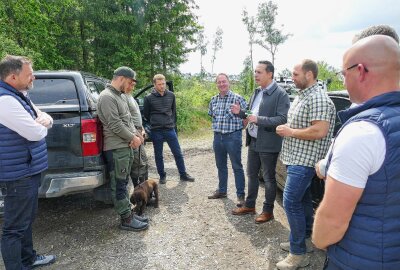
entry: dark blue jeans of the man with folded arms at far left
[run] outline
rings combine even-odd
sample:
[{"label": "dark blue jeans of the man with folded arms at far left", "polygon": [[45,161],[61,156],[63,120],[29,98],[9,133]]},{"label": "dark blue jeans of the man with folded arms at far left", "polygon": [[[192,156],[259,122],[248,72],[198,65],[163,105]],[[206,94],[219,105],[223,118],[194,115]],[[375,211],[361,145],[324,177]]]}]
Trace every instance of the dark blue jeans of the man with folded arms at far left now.
[{"label": "dark blue jeans of the man with folded arms at far left", "polygon": [[36,258],[32,223],[38,208],[40,174],[2,182],[5,190],[1,254],[7,270],[30,269]]}]

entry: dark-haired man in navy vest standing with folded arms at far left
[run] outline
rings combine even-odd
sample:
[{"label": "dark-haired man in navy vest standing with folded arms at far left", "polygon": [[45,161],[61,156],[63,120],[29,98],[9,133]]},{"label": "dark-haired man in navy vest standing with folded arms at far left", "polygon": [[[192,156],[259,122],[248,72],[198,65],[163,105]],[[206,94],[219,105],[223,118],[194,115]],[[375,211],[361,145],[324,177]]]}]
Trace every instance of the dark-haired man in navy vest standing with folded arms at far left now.
[{"label": "dark-haired man in navy vest standing with folded arms at far left", "polygon": [[47,169],[45,137],[51,117],[27,96],[32,62],[6,56],[0,62],[0,188],[5,192],[1,253],[7,270],[31,269],[55,261],[33,249],[32,223],[41,172]]}]

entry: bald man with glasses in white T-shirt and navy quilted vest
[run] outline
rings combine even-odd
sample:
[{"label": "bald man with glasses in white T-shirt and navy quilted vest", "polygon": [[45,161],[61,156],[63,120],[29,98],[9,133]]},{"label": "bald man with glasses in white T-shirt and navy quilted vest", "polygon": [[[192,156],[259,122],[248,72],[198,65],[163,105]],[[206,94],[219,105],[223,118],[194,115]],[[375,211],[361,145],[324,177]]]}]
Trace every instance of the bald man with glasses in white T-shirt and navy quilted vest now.
[{"label": "bald man with glasses in white T-shirt and navy quilted vest", "polygon": [[358,105],[339,112],[312,240],[328,251],[324,269],[400,269],[399,45],[383,35],[359,40],[342,74]]}]

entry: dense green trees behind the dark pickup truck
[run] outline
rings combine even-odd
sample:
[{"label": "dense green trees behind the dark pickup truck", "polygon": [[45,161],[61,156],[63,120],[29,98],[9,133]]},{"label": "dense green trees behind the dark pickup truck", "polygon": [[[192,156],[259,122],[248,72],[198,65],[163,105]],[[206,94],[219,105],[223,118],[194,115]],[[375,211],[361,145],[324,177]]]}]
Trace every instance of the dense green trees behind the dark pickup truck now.
[{"label": "dense green trees behind the dark pickup truck", "polygon": [[107,78],[127,65],[148,80],[177,71],[195,49],[196,8],[192,0],[0,0],[0,56]]}]

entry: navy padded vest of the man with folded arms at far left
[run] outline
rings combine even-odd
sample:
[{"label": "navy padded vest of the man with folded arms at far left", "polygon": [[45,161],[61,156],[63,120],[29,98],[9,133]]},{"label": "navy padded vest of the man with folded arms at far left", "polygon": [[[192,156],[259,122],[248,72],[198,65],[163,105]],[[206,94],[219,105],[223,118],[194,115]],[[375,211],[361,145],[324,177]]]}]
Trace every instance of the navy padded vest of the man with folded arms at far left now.
[{"label": "navy padded vest of the man with folded arms at far left", "polygon": [[[17,99],[26,111],[36,118],[29,99],[10,85],[0,81],[0,96]],[[10,115],[9,117],[13,117]],[[17,132],[0,124],[0,181],[12,181],[38,174],[47,169],[45,139],[28,141]]]}]

